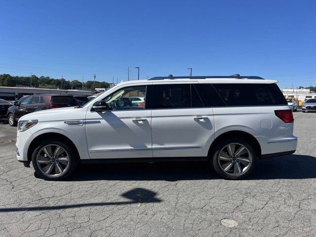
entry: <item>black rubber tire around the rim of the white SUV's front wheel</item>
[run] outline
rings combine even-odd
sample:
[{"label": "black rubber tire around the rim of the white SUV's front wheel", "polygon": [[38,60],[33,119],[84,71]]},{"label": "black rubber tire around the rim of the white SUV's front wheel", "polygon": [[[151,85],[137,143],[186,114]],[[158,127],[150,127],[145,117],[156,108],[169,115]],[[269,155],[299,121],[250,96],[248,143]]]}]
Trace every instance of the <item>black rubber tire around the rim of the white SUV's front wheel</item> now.
[{"label": "black rubber tire around the rim of the white SUV's front wheel", "polygon": [[[63,173],[62,175],[60,176],[57,176],[57,177],[53,177],[53,176],[48,176],[44,173],[42,173],[40,171],[40,168],[38,166],[38,163],[37,163],[37,156],[40,152],[40,150],[44,147],[44,146],[47,146],[47,145],[57,145],[57,146],[60,146],[62,147],[67,153],[68,153],[68,160],[69,160],[69,167],[68,169],[66,170],[65,173]],[[69,175],[71,175],[75,169],[77,168],[78,166],[78,158],[76,158],[74,152],[73,152],[73,148],[67,144],[67,143],[62,143],[62,142],[56,142],[56,141],[53,141],[51,139],[48,139],[48,140],[44,140],[42,142],[40,142],[38,144],[38,146],[35,148],[35,150],[33,151],[33,154],[32,154],[32,164],[33,164],[33,167],[35,169],[35,171],[37,172],[37,174],[45,179],[45,180],[62,180],[62,179],[65,179],[66,177],[68,177]]]}]

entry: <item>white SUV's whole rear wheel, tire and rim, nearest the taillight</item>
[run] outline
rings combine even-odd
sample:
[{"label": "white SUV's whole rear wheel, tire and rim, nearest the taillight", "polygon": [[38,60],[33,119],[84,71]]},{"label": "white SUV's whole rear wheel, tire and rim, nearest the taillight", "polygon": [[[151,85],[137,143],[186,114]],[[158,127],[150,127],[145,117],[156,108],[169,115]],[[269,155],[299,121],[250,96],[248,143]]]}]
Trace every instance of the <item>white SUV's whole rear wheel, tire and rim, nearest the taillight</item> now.
[{"label": "white SUV's whole rear wheel, tire and rim, nearest the taillight", "polygon": [[256,154],[251,144],[241,138],[219,142],[210,154],[215,171],[225,179],[240,179],[248,175],[255,164]]}]

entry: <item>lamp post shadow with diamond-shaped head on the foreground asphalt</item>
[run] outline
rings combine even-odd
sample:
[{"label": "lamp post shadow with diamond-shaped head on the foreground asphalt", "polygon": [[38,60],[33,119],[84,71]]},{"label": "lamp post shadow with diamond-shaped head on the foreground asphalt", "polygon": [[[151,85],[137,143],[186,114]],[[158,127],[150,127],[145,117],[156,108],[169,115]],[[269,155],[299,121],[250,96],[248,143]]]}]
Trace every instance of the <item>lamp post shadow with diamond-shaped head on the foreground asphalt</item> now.
[{"label": "lamp post shadow with diamond-shaped head on the foreground asphalt", "polygon": [[56,206],[27,206],[27,207],[8,207],[0,208],[0,212],[15,212],[15,211],[43,211],[43,210],[58,210],[65,208],[76,208],[76,207],[93,207],[93,206],[107,206],[107,205],[126,205],[138,203],[150,203],[150,202],[161,202],[161,200],[155,197],[157,193],[142,189],[136,188],[126,193],[123,193],[121,197],[129,199],[128,201],[114,201],[114,202],[92,202],[92,203],[77,203],[69,205],[56,205]]}]

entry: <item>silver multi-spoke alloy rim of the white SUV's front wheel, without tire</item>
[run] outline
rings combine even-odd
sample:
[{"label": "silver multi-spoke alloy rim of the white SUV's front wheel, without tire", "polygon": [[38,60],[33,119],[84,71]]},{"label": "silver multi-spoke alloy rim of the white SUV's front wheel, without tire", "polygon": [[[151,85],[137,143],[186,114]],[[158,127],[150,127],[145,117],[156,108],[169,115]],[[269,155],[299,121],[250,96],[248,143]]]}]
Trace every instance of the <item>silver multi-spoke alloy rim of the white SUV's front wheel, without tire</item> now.
[{"label": "silver multi-spoke alloy rim of the white SUV's front wheel, without tire", "polygon": [[36,158],[40,171],[47,176],[60,176],[69,168],[69,155],[58,145],[46,145]]}]

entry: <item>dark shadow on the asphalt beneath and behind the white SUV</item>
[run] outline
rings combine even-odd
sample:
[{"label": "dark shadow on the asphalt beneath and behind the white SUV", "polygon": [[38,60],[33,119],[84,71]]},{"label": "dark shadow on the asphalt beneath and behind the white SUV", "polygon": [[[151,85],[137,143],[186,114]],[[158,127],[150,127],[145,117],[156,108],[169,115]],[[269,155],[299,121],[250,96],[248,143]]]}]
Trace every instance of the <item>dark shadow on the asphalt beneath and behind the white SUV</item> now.
[{"label": "dark shadow on the asphalt beneath and behind the white SUV", "polygon": [[[287,155],[260,159],[245,180],[316,178],[316,158]],[[67,181],[222,179],[207,162],[108,163],[79,166]]]}]

